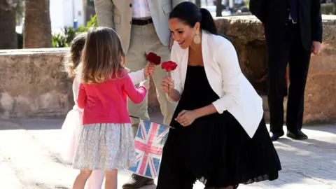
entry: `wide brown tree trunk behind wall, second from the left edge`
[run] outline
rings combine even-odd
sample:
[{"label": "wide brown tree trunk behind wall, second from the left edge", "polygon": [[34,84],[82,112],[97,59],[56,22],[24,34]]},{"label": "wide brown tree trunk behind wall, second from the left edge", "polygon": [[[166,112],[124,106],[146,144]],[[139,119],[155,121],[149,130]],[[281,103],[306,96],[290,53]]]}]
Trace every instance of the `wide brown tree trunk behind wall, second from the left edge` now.
[{"label": "wide brown tree trunk behind wall, second from the left edge", "polygon": [[26,0],[24,48],[51,48],[49,0]]}]

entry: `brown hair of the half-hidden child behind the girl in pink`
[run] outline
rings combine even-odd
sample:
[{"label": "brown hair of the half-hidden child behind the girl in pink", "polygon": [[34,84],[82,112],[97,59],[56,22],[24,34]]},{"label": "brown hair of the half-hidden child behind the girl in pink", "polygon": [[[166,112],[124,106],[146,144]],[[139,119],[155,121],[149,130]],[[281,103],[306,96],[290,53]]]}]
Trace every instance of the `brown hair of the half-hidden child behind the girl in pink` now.
[{"label": "brown hair of the half-hidden child behind the girl in pink", "polygon": [[63,62],[64,70],[68,73],[68,76],[74,78],[76,75],[76,69],[80,62],[80,55],[85,45],[87,33],[81,33],[71,41],[70,52],[66,57],[66,61]]}]

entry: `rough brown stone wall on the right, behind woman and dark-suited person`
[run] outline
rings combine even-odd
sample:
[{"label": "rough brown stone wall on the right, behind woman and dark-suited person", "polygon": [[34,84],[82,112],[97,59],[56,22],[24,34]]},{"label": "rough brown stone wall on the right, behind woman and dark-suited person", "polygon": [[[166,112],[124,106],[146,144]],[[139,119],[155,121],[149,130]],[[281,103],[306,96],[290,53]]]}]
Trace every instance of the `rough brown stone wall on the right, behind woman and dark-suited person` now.
[{"label": "rough brown stone wall on the right, behind woman and dark-suited person", "polygon": [[[267,70],[267,49],[261,22],[254,16],[237,16],[217,18],[216,24],[219,32],[228,36],[235,45],[241,70],[262,96],[268,120],[267,86],[265,81],[260,82]],[[304,123],[336,123],[335,97],[336,16],[323,15],[323,49],[320,54],[311,56],[304,99]],[[286,105],[286,99],[283,104]]]}]

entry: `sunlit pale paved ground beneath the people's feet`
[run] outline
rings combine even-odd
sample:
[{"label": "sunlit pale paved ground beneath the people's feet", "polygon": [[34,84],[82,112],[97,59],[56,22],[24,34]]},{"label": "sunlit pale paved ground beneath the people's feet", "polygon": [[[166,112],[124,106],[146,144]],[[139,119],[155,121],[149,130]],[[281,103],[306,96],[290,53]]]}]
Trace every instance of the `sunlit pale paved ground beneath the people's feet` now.
[{"label": "sunlit pale paved ground beneath the people's feet", "polygon": [[[161,120],[158,115],[154,119]],[[71,188],[77,171],[59,158],[62,122],[0,120],[1,189]],[[336,189],[336,125],[304,128],[308,140],[284,137],[274,143],[283,167],[278,180],[241,185],[239,189]],[[120,172],[118,188],[129,176],[129,172]],[[194,188],[204,186],[196,183]]]}]

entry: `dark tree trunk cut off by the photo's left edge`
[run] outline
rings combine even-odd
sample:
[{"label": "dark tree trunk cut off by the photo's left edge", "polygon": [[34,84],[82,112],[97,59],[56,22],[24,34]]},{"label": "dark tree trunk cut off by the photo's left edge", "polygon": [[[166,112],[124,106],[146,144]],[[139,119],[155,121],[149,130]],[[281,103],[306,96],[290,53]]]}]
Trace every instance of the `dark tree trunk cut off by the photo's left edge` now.
[{"label": "dark tree trunk cut off by the photo's left edge", "polygon": [[15,1],[0,0],[0,49],[18,48],[16,5]]}]

